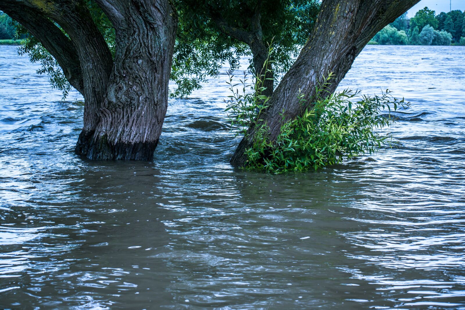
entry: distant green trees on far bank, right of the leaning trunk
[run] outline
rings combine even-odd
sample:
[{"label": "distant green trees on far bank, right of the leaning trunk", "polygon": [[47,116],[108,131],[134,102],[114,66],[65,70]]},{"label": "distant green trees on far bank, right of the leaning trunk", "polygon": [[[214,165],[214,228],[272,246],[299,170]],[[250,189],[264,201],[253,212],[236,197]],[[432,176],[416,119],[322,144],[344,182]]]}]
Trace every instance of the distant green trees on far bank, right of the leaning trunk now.
[{"label": "distant green trees on far bank, right of the leaning trunk", "polygon": [[407,13],[377,33],[369,44],[381,45],[465,45],[465,13],[445,13],[425,7],[414,17]]}]

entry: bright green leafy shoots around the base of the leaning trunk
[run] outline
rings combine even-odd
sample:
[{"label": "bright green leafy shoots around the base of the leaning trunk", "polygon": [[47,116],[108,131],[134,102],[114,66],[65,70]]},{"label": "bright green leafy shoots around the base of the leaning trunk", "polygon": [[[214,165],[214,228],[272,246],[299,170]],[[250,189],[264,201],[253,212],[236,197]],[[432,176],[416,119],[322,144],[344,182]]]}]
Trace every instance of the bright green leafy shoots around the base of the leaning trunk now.
[{"label": "bright green leafy shoots around the base of the leaning trunk", "polygon": [[[228,101],[233,128],[246,133],[249,126],[256,126],[253,145],[246,150],[246,169],[274,173],[308,171],[341,163],[344,158],[372,154],[388,143],[389,135],[379,129],[394,122],[391,106],[408,106],[404,99],[393,98],[389,92],[381,96],[360,96],[359,92],[344,90],[330,94],[326,89],[331,75],[317,87],[312,104],[298,117],[283,122],[276,140],[268,138],[268,126],[260,119],[266,111],[267,99],[247,94],[245,80],[241,80],[243,94],[234,92]],[[230,80],[230,89],[236,85]],[[299,94],[302,106],[305,94]],[[387,115],[383,112],[387,110]],[[236,127],[234,127],[237,125]]]}]

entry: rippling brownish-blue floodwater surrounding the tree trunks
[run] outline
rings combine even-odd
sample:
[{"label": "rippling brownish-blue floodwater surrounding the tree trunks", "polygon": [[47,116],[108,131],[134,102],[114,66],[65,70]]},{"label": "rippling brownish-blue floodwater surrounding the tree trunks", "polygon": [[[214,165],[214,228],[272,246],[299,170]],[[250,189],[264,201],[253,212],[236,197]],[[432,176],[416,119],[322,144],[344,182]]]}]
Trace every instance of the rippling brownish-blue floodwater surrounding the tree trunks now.
[{"label": "rippling brownish-blue floodwater surrounding the tree trunks", "polygon": [[283,175],[229,165],[225,75],[92,162],[37,68],[0,46],[1,309],[465,309],[464,47],[367,46],[341,88],[412,102],[399,148]]}]

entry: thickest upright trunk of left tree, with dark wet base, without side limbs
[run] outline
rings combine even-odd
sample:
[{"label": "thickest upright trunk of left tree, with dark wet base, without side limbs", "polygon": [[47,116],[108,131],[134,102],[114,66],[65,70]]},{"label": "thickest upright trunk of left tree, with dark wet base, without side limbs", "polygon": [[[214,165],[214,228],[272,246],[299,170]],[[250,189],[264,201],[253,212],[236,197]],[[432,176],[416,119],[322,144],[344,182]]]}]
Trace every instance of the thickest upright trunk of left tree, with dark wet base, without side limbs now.
[{"label": "thickest upright trunk of left tree, with dark wet base, without side limbs", "polygon": [[83,130],[90,139],[80,140],[76,152],[151,160],[166,114],[177,15],[168,0],[115,2],[99,3],[116,29],[113,72],[97,125]]}]

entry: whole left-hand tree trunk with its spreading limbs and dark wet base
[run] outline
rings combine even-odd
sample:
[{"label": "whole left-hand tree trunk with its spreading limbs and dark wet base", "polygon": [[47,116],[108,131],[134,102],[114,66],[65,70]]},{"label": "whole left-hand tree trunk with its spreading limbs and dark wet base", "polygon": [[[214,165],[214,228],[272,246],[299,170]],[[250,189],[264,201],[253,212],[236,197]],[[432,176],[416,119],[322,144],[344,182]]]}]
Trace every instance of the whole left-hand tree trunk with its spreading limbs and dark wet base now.
[{"label": "whole left-hand tree trunk with its spreading limbs and dark wet base", "polygon": [[0,9],[36,36],[83,94],[76,153],[150,160],[166,114],[176,11],[169,0],[96,2],[116,30],[114,61],[84,0],[1,0]]}]

